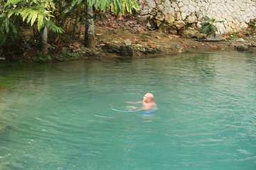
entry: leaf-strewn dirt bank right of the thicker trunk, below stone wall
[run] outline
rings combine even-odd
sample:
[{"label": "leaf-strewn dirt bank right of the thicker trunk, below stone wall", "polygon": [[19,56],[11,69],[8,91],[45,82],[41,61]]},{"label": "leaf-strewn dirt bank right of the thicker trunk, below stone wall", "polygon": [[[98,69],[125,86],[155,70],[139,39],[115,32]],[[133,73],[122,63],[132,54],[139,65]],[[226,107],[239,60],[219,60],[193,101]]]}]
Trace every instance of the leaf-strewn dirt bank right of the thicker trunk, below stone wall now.
[{"label": "leaf-strewn dirt bank right of the thicker trunk, below stone wall", "polygon": [[[135,16],[115,18],[108,16],[108,20],[95,23],[97,51],[103,52],[105,57],[120,56],[118,47],[130,46],[133,54],[124,55],[143,57],[145,55],[169,54],[180,52],[205,52],[210,50],[240,50],[256,52],[256,33],[241,32],[232,35],[218,35],[215,39],[201,39],[203,35],[171,35],[161,30],[149,30],[143,21]],[[109,50],[106,45],[114,46]],[[120,50],[125,50],[121,48]],[[104,57],[103,55],[103,57]]]}]

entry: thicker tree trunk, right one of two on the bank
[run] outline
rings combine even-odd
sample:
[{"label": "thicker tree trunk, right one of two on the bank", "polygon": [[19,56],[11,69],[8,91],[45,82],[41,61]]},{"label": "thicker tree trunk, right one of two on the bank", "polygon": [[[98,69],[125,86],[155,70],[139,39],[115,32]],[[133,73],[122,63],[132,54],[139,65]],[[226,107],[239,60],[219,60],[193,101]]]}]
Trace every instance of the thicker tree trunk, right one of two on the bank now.
[{"label": "thicker tree trunk, right one of two on the bank", "polygon": [[86,22],[85,22],[85,40],[84,45],[91,50],[95,50],[95,28],[93,21],[93,9],[92,6],[86,7]]}]

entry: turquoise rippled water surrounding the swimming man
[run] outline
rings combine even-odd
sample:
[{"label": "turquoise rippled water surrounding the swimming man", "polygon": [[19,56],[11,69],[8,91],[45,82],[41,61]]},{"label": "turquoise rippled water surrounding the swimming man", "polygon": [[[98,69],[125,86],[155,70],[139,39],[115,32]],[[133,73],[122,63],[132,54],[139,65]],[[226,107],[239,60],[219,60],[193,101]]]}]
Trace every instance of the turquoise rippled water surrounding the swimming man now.
[{"label": "turquoise rippled water surrounding the swimming man", "polygon": [[[0,169],[256,169],[256,55],[1,64]],[[159,110],[122,112],[155,95]],[[121,110],[113,111],[112,108]]]}]

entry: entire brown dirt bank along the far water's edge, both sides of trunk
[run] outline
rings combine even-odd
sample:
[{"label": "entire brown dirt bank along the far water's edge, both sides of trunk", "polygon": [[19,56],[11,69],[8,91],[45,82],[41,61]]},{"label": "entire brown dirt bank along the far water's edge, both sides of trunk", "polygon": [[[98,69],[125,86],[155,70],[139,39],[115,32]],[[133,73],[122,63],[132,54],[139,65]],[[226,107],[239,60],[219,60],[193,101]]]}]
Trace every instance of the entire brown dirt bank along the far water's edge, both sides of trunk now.
[{"label": "entire brown dirt bank along the far water's edge, both sides of trunk", "polygon": [[[95,22],[96,52],[90,52],[82,45],[83,33],[78,40],[59,47],[50,60],[86,60],[107,57],[144,57],[149,55],[176,55],[181,52],[206,52],[212,50],[239,50],[256,52],[256,33],[243,32],[232,35],[219,35],[215,39],[202,39],[203,35],[171,35],[161,30],[149,30],[143,21],[136,16],[116,18],[108,16],[107,21]],[[66,53],[70,56],[56,57]],[[74,54],[75,53],[75,54]],[[74,57],[75,56],[75,57]],[[42,56],[41,56],[42,57]],[[40,58],[40,56],[39,56]],[[12,57],[18,61],[34,61],[38,59],[38,49],[30,48],[23,55]],[[42,62],[41,61],[41,62]]]}]

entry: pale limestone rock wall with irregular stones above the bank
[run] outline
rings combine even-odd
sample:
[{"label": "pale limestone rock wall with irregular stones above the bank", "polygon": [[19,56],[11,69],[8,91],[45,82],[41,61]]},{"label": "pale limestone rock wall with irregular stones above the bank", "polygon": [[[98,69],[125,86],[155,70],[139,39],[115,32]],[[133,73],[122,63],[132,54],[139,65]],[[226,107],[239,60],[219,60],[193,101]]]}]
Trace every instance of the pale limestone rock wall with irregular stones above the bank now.
[{"label": "pale limestone rock wall with irregular stones above the bank", "polygon": [[170,33],[198,30],[203,16],[218,21],[220,33],[246,30],[256,21],[256,0],[138,0],[149,28]]}]

